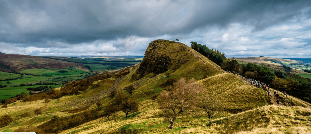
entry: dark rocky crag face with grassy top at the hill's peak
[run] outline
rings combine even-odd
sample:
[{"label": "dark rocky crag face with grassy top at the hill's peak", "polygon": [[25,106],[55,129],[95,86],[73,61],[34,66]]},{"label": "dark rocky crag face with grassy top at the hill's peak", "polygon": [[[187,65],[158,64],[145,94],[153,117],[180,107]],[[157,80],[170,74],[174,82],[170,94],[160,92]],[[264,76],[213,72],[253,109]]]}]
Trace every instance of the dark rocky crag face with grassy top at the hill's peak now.
[{"label": "dark rocky crag face with grassy top at the hill's peak", "polygon": [[140,66],[132,80],[138,80],[149,73],[160,74],[176,70],[189,60],[190,48],[174,41],[157,39],[149,43]]}]

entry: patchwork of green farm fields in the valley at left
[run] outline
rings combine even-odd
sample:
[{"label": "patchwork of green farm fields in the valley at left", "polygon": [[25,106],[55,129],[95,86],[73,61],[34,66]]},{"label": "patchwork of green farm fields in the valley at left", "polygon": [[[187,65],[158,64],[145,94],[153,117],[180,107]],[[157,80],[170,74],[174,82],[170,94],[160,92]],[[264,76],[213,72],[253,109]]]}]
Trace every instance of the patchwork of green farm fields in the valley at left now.
[{"label": "patchwork of green farm fields in the valley at left", "polygon": [[[38,69],[24,69],[19,71],[20,74],[1,72],[0,71],[0,86],[7,86],[0,88],[0,101],[3,99],[8,99],[14,97],[17,94],[23,92],[30,92],[27,88],[36,88],[45,85],[28,85],[36,83],[55,83],[57,85],[47,85],[51,88],[61,87],[70,81],[81,80],[85,77],[92,76],[100,72],[108,72],[112,70],[117,70],[123,68],[123,66],[129,66],[139,63],[142,59],[116,59],[116,58],[63,58],[63,57],[53,57],[56,60],[63,60],[67,62],[76,62],[84,66],[89,66],[89,69],[77,66],[77,67],[67,67],[64,69],[53,69],[53,68],[38,68]],[[103,61],[101,61],[103,60]],[[96,64],[96,63],[98,64]],[[89,64],[85,64],[89,63]],[[105,65],[110,64],[110,65]],[[116,66],[114,66],[116,65]],[[60,72],[63,71],[63,72]],[[67,72],[66,72],[67,71]],[[30,74],[30,75],[27,75]],[[32,75],[31,75],[32,74]],[[22,77],[21,77],[22,76]],[[19,78],[20,77],[20,78]],[[14,79],[3,81],[6,79]],[[20,84],[26,84],[26,86],[20,86]]]}]

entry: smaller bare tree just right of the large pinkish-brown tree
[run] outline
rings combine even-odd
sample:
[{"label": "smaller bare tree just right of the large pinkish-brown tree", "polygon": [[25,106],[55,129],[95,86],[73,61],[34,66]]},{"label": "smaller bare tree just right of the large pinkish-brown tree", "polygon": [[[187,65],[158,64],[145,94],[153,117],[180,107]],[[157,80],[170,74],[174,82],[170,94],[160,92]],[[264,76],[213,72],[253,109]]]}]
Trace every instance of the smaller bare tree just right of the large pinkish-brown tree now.
[{"label": "smaller bare tree just right of the large pinkish-brown tree", "polygon": [[216,99],[203,98],[203,101],[199,104],[199,107],[207,113],[208,121],[213,124],[211,119],[216,117],[216,114],[222,111],[220,102]]}]

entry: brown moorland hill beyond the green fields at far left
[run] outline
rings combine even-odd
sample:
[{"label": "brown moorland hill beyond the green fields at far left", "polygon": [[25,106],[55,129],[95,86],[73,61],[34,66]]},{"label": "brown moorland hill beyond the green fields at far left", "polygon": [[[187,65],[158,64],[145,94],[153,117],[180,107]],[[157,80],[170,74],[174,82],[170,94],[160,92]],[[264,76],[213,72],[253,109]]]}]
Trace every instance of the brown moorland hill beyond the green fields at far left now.
[{"label": "brown moorland hill beyond the green fields at far left", "polygon": [[[82,67],[84,65],[73,62],[66,62],[38,56],[18,55],[18,54],[0,54],[0,71],[20,72],[25,69],[64,69],[69,67]],[[87,68],[86,68],[87,69]]]}]

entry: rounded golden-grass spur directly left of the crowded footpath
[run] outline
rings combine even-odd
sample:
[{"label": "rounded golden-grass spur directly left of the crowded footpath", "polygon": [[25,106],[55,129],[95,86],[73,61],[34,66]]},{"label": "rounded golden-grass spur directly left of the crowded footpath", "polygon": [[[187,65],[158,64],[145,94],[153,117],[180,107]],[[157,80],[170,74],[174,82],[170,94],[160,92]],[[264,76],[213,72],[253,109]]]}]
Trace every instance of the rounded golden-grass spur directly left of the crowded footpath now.
[{"label": "rounded golden-grass spur directly left of the crowded footpath", "polygon": [[211,76],[198,82],[205,87],[208,96],[219,99],[230,113],[271,104],[265,91],[248,85],[231,73]]}]

